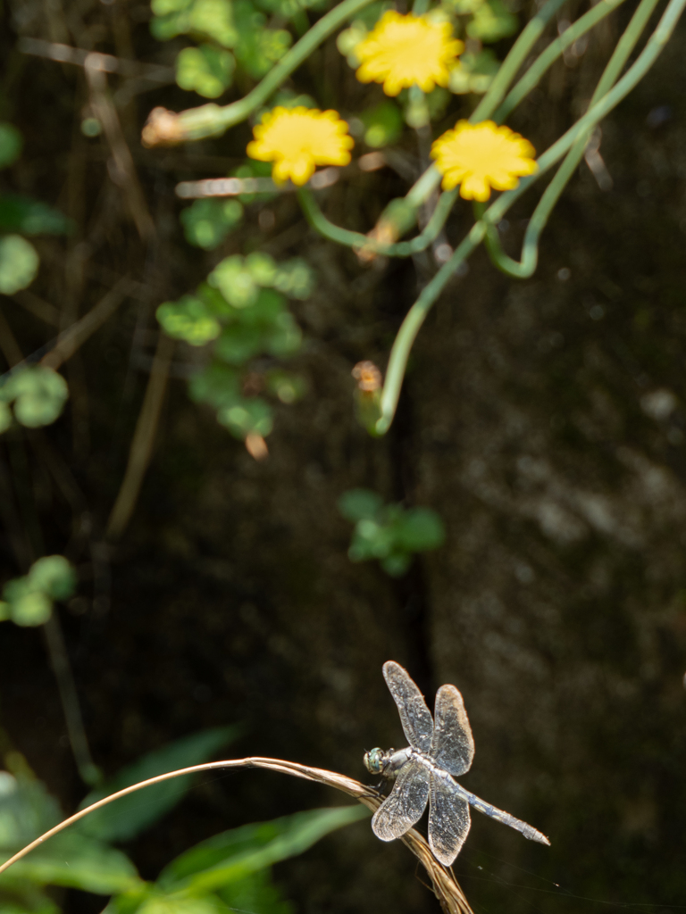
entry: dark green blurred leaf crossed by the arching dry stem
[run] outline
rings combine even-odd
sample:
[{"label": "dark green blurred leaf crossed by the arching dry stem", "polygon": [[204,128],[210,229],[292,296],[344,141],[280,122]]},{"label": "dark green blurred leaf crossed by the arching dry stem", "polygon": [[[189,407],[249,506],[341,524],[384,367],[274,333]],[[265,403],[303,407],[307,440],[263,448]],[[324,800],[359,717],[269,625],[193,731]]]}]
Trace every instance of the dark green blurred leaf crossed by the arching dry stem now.
[{"label": "dark green blurred leaf crossed by the arching dry stem", "polygon": [[[217,727],[177,739],[162,749],[147,753],[132,765],[127,765],[111,781],[89,793],[79,808],[90,806],[102,797],[157,774],[198,765],[238,735],[237,727]],[[184,775],[147,787],[145,792],[129,794],[91,813],[78,827],[83,833],[103,841],[128,841],[176,806],[188,792],[191,782],[192,776]]]}]

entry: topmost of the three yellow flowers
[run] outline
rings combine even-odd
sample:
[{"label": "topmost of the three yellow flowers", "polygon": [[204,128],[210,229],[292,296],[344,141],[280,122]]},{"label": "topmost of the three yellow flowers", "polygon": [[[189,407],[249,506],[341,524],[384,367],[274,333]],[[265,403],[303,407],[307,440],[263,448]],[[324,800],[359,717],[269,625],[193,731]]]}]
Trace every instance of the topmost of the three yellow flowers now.
[{"label": "topmost of the three yellow flowers", "polygon": [[389,10],[356,45],[362,65],[356,75],[360,82],[382,82],[386,95],[413,85],[430,92],[436,85],[447,86],[450,66],[464,49],[449,22]]}]

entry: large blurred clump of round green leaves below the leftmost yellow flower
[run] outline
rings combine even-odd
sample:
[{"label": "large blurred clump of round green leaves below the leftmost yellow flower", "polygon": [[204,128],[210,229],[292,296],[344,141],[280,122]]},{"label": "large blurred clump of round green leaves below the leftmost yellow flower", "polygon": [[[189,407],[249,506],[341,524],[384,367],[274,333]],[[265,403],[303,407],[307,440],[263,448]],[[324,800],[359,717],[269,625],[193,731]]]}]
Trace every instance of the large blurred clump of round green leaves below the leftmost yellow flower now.
[{"label": "large blurred clump of round green leaves below the leftmost yellow flower", "polygon": [[[313,284],[305,260],[277,263],[268,254],[233,254],[220,261],[197,292],[157,309],[166,334],[194,346],[214,342],[213,357],[191,378],[189,392],[192,399],[216,409],[220,424],[234,437],[271,432],[272,408],[256,396],[257,376],[249,372],[249,363],[256,356],[295,355],[302,334],[286,296],[305,299]],[[304,384],[283,371],[270,369],[257,379],[258,388],[284,403],[294,403],[304,393]]]}]

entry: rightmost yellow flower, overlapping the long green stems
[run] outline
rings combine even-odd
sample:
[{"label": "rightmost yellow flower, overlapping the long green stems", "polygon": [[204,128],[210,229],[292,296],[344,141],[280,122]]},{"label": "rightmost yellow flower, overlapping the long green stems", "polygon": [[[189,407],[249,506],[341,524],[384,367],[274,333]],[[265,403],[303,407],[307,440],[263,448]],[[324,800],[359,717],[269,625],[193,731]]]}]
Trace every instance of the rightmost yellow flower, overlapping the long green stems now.
[{"label": "rightmost yellow flower, overlapping the long green stems", "polygon": [[492,121],[458,121],[455,130],[434,142],[431,154],[444,176],[444,189],[459,184],[460,197],[466,200],[488,200],[491,187],[511,190],[520,183],[520,175],[532,175],[538,168],[529,140]]}]

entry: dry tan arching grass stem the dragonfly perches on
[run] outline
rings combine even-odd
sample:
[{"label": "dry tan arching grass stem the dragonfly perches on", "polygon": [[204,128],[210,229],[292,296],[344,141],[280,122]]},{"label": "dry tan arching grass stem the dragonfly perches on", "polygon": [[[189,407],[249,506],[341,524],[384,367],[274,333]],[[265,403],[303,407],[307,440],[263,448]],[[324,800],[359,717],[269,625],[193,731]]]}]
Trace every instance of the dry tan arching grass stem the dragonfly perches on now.
[{"label": "dry tan arching grass stem the dragonfly perches on", "polygon": [[[10,857],[9,860],[5,861],[5,863],[0,866],[0,873],[5,872],[5,869],[8,869],[12,864],[16,863],[17,860],[21,860],[22,857],[27,856],[28,853],[42,845],[54,834],[58,834],[69,825],[79,822],[80,819],[83,819],[89,813],[94,812],[96,809],[100,809],[102,806],[106,806],[107,803],[113,802],[113,800],[118,800],[120,797],[126,796],[129,793],[142,790],[144,787],[158,784],[160,781],[169,781],[172,778],[181,777],[184,774],[193,774],[197,771],[216,771],[218,769],[227,768],[263,768],[267,771],[279,771],[281,774],[290,774],[295,778],[303,778],[305,781],[316,781],[316,783],[326,784],[327,787],[334,787],[338,791],[347,793],[348,796],[361,802],[372,812],[379,809],[381,802],[383,802],[383,797],[373,787],[366,787],[359,781],[348,778],[345,774],[338,774],[338,771],[327,771],[323,768],[310,768],[308,765],[300,765],[295,761],[263,759],[259,756],[253,756],[248,759],[209,761],[203,765],[192,765],[190,768],[181,768],[178,771],[168,771],[166,774],[158,774],[155,778],[148,778],[147,781],[140,781],[140,783],[132,784],[131,787],[125,787],[123,791],[118,791],[109,797],[94,802],[91,806],[87,806],[85,809],[80,810],[79,813],[71,815],[69,819],[65,819],[64,822],[60,822],[59,825],[55,825],[54,828],[51,828],[45,834],[41,834],[40,837],[36,838],[35,841],[32,841],[30,845],[24,847],[16,853],[15,856]],[[411,828],[409,832],[402,835],[401,841],[410,848],[413,855],[417,857],[428,873],[434,889],[434,895],[440,901],[441,907],[446,914],[474,914],[469,907],[464,892],[458,886],[456,878],[453,876],[453,871],[450,868],[443,866],[443,864],[440,864],[435,859],[434,855],[431,853],[431,848],[423,835],[416,831],[416,829]]]}]

